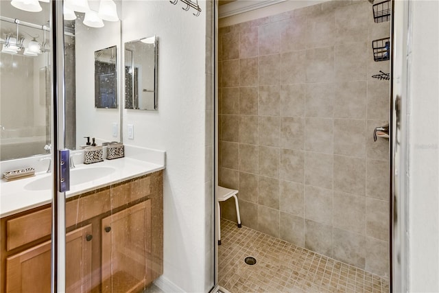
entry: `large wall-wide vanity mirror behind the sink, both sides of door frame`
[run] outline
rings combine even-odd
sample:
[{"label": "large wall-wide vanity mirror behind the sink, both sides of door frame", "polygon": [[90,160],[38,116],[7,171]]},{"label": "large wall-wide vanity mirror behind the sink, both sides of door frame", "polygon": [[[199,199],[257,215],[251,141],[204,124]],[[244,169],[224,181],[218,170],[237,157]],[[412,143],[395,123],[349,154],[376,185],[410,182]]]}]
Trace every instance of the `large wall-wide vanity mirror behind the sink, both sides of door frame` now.
[{"label": "large wall-wide vanity mirror behind the sink, both sides of door frame", "polygon": [[[91,10],[99,10],[99,1],[88,1]],[[115,1],[121,15],[121,1]],[[10,1],[0,1],[0,161],[38,156],[50,152],[51,143],[51,66],[50,31],[43,31],[50,19],[51,4],[40,2],[43,10],[38,13],[14,8]],[[84,24],[84,13],[76,13],[76,19],[64,19],[64,74],[65,74],[65,144],[70,150],[78,150],[85,144],[84,137],[95,137],[97,143],[121,140],[121,95],[120,73],[122,60],[112,64],[113,86],[101,86],[101,92],[114,93],[115,102],[95,104],[96,52],[109,55],[116,45],[114,56],[121,55],[121,22],[104,21],[104,27],[89,27]],[[4,18],[3,18],[4,17]],[[12,19],[12,23],[8,21]],[[3,51],[6,41],[23,41],[23,48],[16,54]],[[32,23],[36,27],[29,27]],[[40,44],[37,55],[25,54],[32,40]],[[44,47],[43,47],[44,45]],[[108,49],[104,49],[108,48]],[[102,50],[104,49],[104,50]],[[107,58],[97,61],[106,63]],[[98,72],[102,73],[102,70]],[[111,83],[111,78],[102,76],[102,81]],[[112,92],[111,92],[112,91]],[[110,99],[110,100],[111,100]],[[120,99],[119,101],[117,99]],[[108,107],[108,108],[106,108]],[[113,108],[110,108],[113,107]]]}]

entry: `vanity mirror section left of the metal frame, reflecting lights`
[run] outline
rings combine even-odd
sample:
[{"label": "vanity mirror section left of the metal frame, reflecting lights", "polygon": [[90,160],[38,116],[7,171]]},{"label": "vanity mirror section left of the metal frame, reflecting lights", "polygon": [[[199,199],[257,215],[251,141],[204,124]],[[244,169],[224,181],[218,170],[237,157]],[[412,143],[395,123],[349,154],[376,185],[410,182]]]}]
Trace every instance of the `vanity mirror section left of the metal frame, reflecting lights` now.
[{"label": "vanity mirror section left of the metal frame, reflecting lights", "polygon": [[50,5],[41,6],[32,14],[0,1],[0,161],[46,154],[50,143],[50,33],[43,27]]}]

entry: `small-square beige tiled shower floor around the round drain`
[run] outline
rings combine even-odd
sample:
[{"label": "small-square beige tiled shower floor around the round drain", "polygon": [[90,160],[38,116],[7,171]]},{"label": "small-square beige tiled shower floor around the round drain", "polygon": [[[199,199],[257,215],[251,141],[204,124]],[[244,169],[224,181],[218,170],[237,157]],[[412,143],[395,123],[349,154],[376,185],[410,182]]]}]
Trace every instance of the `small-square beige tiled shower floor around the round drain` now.
[{"label": "small-square beige tiled shower floor around the round drain", "polygon": [[389,291],[387,279],[224,219],[221,242],[219,285],[232,293]]}]

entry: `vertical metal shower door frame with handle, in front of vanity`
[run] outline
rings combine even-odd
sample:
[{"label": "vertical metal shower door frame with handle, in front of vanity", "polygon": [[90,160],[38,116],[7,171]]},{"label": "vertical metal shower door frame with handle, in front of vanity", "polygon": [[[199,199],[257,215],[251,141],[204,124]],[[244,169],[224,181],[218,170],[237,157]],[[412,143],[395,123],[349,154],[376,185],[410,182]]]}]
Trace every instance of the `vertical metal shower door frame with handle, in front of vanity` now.
[{"label": "vertical metal shower door frame with handle, in front of vanity", "polygon": [[[69,190],[69,152],[65,150],[65,80],[64,80],[64,3],[51,1],[51,162],[52,162],[52,232],[51,292],[65,292],[66,226],[65,191]],[[62,152],[67,160],[62,159]],[[66,170],[67,182],[61,180]],[[67,188],[61,192],[62,185]]]}]

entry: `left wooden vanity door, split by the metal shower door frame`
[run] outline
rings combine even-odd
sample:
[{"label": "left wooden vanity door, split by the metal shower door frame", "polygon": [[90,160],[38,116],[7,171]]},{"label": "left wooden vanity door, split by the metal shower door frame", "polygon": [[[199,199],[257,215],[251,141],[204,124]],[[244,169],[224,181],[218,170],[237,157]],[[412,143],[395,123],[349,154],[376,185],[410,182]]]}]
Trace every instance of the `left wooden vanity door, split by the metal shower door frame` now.
[{"label": "left wooden vanity door, split by the metal shower door frame", "polygon": [[[66,235],[66,291],[91,290],[91,224]],[[88,239],[90,239],[88,237]],[[50,292],[51,241],[6,259],[6,292]]]}]

